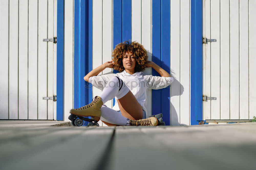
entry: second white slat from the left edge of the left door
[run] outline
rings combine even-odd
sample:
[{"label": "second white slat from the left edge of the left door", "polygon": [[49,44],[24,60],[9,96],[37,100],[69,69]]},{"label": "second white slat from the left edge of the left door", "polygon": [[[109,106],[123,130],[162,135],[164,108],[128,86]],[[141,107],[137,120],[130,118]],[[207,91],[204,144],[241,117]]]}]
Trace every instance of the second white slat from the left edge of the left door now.
[{"label": "second white slat from the left edge of the left door", "polygon": [[9,119],[18,119],[18,0],[9,9]]}]

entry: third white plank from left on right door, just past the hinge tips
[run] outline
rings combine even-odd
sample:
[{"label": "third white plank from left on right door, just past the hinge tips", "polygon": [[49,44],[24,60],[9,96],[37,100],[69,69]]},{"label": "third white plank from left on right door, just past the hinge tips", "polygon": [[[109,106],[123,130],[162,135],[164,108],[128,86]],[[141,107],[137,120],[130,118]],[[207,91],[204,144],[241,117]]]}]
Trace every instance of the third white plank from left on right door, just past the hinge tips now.
[{"label": "third white plank from left on right door, just past the hinge tips", "polygon": [[220,119],[229,119],[229,0],[220,1]]}]

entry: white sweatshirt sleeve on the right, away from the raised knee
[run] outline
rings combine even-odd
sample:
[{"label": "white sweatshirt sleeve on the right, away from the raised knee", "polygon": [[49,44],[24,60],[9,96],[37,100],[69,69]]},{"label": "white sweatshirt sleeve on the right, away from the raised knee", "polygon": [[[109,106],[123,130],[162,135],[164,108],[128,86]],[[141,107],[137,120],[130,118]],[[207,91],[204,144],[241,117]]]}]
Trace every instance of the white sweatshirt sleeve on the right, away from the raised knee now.
[{"label": "white sweatshirt sleeve on the right, away from the raised knee", "polygon": [[173,77],[161,77],[153,75],[144,75],[148,89],[161,89],[172,84]]}]

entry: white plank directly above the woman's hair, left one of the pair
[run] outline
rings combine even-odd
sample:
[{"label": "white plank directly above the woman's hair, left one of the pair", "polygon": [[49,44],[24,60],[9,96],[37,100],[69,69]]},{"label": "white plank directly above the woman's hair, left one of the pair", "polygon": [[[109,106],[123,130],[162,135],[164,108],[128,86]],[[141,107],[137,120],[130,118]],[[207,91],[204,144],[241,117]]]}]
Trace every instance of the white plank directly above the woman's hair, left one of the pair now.
[{"label": "white plank directly above the woman's hair, left one of the pair", "polygon": [[142,11],[141,1],[132,0],[132,41],[141,44],[142,39]]}]

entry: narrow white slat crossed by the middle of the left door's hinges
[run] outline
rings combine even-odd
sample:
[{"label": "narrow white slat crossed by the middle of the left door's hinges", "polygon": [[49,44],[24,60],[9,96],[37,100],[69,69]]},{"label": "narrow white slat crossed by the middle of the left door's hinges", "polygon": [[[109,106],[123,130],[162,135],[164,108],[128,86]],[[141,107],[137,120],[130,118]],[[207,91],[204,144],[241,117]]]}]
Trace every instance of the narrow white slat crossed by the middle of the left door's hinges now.
[{"label": "narrow white slat crossed by the middle of the left door's hinges", "polygon": [[[48,1],[48,38],[54,37],[54,1]],[[54,43],[50,42],[47,43],[48,48],[48,63],[47,63],[47,96],[52,96],[53,93],[53,81],[54,81],[54,62],[53,62],[53,55],[54,55]],[[47,101],[47,119],[53,120],[53,104],[55,102],[48,100]]]}]

